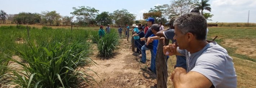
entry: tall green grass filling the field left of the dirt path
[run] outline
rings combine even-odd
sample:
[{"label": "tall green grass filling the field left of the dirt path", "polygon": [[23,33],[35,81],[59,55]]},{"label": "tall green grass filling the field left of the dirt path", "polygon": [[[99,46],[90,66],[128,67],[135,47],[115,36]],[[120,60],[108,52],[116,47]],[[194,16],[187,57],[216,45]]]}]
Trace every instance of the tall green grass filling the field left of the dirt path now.
[{"label": "tall green grass filling the field left of the dirt path", "polygon": [[[81,68],[96,64],[89,58],[93,49],[88,40],[98,30],[29,27],[29,37],[22,25],[1,26],[0,30],[0,41],[4,41],[0,43],[0,83],[7,83],[2,81],[6,75],[12,77],[11,84],[27,88],[79,88],[95,81],[87,74],[90,69]],[[12,56],[19,56],[22,62]],[[8,61],[14,61],[23,69],[8,68]],[[7,74],[8,71],[12,75]]]}]

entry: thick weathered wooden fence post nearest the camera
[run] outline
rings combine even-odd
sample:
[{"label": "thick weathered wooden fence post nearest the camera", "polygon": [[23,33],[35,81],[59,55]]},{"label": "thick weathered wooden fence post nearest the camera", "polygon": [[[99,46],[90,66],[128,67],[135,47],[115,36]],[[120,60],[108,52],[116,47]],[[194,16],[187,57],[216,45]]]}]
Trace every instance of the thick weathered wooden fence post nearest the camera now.
[{"label": "thick weathered wooden fence post nearest the camera", "polygon": [[[165,41],[165,44],[163,44]],[[161,37],[158,41],[156,53],[156,84],[157,88],[167,88],[167,56],[164,55],[163,46],[168,45],[169,40]]]}]

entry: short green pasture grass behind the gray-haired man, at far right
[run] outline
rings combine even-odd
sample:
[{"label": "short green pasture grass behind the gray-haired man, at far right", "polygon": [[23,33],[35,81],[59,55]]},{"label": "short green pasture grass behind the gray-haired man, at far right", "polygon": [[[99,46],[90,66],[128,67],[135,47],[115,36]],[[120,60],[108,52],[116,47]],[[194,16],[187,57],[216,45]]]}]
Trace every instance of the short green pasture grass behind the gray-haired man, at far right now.
[{"label": "short green pasture grass behind the gray-haired man, at far right", "polygon": [[[212,40],[215,36],[218,36],[215,41],[219,45],[222,45],[223,41],[227,39],[256,39],[256,27],[208,27],[208,29],[208,40]],[[228,47],[224,45],[222,45],[222,47],[228,51],[230,56],[256,62],[256,58],[235,53],[235,50],[237,50],[235,47]]]}]

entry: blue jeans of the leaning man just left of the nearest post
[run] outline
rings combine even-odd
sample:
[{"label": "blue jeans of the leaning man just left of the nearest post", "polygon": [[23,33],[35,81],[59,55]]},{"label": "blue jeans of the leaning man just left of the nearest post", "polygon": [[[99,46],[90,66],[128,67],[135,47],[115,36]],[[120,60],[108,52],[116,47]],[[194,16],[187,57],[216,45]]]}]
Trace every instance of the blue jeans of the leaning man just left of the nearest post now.
[{"label": "blue jeans of the leaning man just left of the nearest post", "polygon": [[[146,60],[147,60],[147,57],[146,57],[146,50],[150,50],[148,48],[146,48],[145,45],[142,46],[141,48],[141,53],[142,53],[142,59],[141,61],[143,63],[146,63]],[[156,72],[156,53],[154,53],[153,49],[150,50],[150,53],[151,53],[151,63],[150,63],[150,69],[154,72]]]}]

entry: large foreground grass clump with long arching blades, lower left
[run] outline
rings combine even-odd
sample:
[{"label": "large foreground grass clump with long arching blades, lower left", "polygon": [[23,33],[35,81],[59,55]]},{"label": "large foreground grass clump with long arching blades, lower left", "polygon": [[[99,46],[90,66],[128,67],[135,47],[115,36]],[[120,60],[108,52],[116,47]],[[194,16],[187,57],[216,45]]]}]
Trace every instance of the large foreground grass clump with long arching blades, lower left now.
[{"label": "large foreground grass clump with long arching blades, lower left", "polygon": [[[95,81],[87,74],[90,69],[82,66],[93,64],[89,44],[86,42],[49,43],[37,45],[27,41],[15,48],[18,56],[26,63],[14,61],[22,66],[22,71],[12,71],[13,85],[17,88],[81,88]],[[96,73],[95,73],[96,74]]]}]

